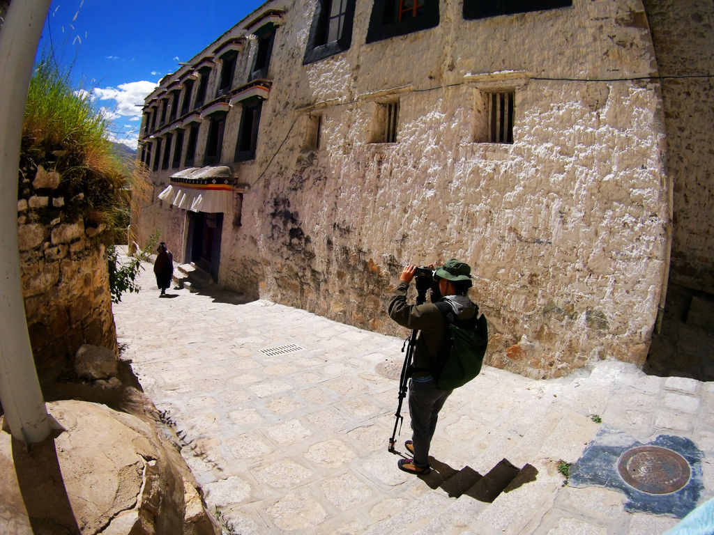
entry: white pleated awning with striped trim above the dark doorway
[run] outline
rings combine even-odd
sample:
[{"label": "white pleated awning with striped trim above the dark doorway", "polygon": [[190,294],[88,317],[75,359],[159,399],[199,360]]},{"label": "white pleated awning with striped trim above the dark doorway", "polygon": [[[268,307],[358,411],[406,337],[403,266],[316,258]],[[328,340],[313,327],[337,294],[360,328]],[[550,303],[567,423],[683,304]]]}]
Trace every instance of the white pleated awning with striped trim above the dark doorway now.
[{"label": "white pleated awning with striped trim above the dark doorway", "polygon": [[226,213],[233,203],[234,183],[226,165],[192,167],[171,175],[171,183],[159,198],[183,210]]}]

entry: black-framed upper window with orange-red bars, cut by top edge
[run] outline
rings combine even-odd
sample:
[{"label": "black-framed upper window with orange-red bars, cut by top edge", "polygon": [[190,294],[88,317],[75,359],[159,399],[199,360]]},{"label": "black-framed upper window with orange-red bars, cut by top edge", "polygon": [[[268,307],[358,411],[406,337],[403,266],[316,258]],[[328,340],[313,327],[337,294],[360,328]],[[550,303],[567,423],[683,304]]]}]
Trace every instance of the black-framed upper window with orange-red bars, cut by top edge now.
[{"label": "black-framed upper window with orange-red bars, cut by top edge", "polygon": [[381,41],[439,24],[438,0],[375,0],[367,42]]}]

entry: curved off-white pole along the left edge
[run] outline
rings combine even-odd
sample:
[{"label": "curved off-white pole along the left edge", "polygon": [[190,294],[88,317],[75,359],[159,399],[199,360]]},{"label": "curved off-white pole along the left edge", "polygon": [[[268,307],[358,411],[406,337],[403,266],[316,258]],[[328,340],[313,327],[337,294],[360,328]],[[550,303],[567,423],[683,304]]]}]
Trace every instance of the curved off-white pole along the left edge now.
[{"label": "curved off-white pole along the left edge", "polygon": [[50,0],[15,0],[0,30],[0,402],[15,439],[51,432],[25,320],[17,240],[17,180],[27,88]]}]

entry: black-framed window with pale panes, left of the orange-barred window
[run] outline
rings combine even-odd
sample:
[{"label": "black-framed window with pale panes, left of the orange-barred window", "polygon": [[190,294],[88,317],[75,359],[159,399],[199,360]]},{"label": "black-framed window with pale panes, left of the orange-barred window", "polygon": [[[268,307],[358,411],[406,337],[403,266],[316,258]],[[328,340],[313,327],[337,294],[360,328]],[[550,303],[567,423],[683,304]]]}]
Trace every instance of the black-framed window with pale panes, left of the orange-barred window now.
[{"label": "black-framed window with pale panes, left of the orange-barred window", "polygon": [[356,0],[318,0],[303,65],[350,48]]}]

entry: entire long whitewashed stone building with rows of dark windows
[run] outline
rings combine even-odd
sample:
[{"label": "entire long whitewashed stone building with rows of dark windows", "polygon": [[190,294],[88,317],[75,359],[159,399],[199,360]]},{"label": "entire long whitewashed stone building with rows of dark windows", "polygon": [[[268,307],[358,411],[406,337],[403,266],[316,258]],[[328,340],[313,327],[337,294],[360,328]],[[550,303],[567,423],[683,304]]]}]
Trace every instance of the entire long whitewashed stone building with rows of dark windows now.
[{"label": "entire long whitewashed stone building with rows of dark windows", "polygon": [[642,365],[668,282],[714,292],[714,8],[684,4],[268,1],[146,98],[136,239],[388,334],[401,266],[456,257],[491,365]]}]

